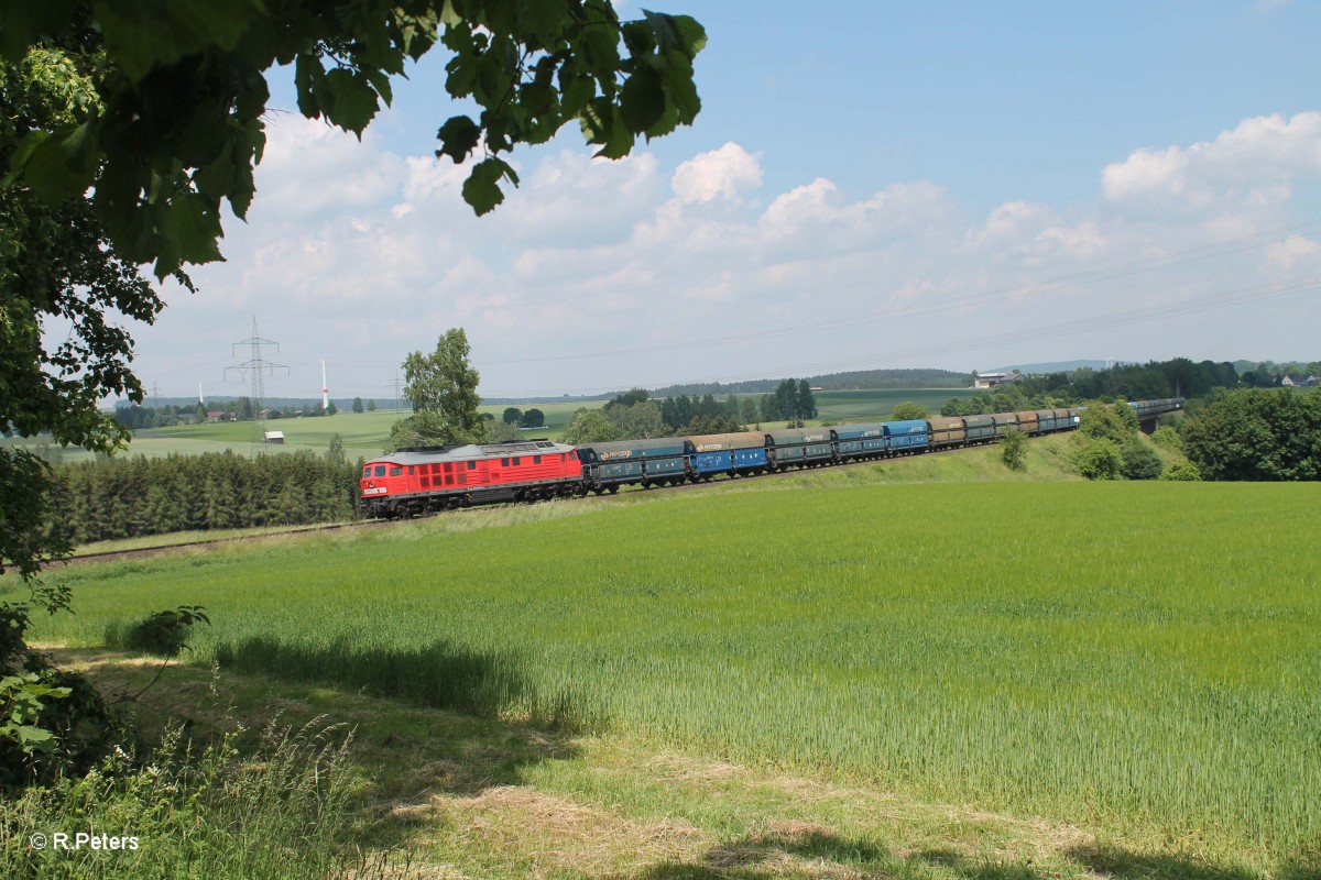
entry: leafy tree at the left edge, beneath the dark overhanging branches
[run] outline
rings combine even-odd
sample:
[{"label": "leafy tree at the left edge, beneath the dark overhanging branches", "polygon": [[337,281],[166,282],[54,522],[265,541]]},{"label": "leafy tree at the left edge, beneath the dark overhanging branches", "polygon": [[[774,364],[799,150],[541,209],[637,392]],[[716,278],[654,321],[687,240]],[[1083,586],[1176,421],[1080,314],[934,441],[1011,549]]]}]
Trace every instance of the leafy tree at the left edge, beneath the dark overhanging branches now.
[{"label": "leafy tree at the left edge, beneath the dark overhanging branches", "polygon": [[[5,22],[4,37],[8,37]],[[0,59],[0,168],[8,169],[33,133],[65,128],[96,107],[96,59],[83,51],[34,50]],[[186,282],[186,278],[182,278]],[[0,183],[0,425],[58,445],[110,453],[128,427],[99,410],[106,396],[143,401],[129,369],[132,339],[107,313],[152,323],[161,299],[137,267],[111,248],[92,206],[73,193],[42,199]],[[49,342],[50,322],[67,326]],[[0,449],[0,571],[24,578],[61,555],[33,524],[49,516],[49,472],[26,453]]]}]

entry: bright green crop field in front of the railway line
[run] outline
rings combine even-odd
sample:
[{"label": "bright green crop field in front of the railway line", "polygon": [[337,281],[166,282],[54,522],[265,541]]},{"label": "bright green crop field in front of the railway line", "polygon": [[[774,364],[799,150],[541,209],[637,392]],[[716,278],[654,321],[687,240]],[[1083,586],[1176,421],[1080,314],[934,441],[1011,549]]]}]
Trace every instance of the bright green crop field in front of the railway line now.
[{"label": "bright green crop field in front of the railway line", "polygon": [[[283,687],[1041,817],[1219,865],[1123,876],[1276,876],[1312,858],[1314,486],[933,486],[894,470],[71,567],[77,615],[37,635],[114,644],[148,611],[197,603],[214,620],[198,665]],[[576,797],[638,797],[587,777]],[[465,872],[526,868],[436,834],[460,848],[431,858]],[[917,876],[1001,876],[974,868]],[[771,876],[649,871],[627,876]]]}]

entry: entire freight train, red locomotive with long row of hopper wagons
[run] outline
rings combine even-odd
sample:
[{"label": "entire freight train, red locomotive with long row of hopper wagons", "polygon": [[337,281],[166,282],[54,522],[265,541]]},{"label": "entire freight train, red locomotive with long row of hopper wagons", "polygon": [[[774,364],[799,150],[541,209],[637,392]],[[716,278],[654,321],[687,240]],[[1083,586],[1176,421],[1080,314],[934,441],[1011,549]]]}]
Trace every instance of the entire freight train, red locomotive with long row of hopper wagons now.
[{"label": "entire freight train, red locomotive with long row of hopper wagons", "polygon": [[[1129,404],[1139,418],[1182,405],[1182,397]],[[992,443],[1011,429],[1029,437],[1073,430],[1081,413],[1074,406],[581,446],[536,439],[404,449],[363,466],[358,509],[363,516],[421,516],[474,504],[601,495],[621,486],[826,467]]]}]

